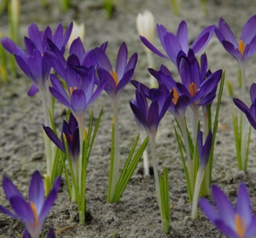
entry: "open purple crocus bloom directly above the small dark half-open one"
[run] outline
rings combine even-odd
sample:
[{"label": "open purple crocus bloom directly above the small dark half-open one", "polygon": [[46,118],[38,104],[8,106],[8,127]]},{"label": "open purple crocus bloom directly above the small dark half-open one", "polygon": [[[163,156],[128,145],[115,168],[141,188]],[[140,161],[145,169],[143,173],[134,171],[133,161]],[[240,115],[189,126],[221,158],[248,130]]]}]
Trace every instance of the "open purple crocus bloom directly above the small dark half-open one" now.
[{"label": "open purple crocus bloom directly above the small dark half-open one", "polygon": [[85,109],[102,93],[105,82],[102,81],[94,92],[96,85],[94,66],[83,67],[77,73],[73,66],[68,63],[70,57],[67,59],[66,69],[67,91],[63,88],[60,80],[53,74],[50,75],[53,87],[49,87],[49,91],[55,99],[67,106],[78,122],[81,122],[84,120]]}]

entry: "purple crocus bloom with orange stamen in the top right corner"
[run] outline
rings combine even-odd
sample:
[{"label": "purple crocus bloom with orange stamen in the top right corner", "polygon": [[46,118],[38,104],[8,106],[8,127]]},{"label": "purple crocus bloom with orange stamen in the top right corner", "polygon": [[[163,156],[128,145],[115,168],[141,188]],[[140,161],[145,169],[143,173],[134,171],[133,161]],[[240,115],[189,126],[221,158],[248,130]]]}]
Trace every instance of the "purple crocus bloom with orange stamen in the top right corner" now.
[{"label": "purple crocus bloom with orange stamen in the top right corner", "polygon": [[239,42],[236,41],[234,33],[230,30],[230,26],[222,18],[218,20],[218,27],[215,32],[218,40],[238,62],[240,66],[247,65],[256,51],[256,15],[247,20],[246,25],[241,31]]}]

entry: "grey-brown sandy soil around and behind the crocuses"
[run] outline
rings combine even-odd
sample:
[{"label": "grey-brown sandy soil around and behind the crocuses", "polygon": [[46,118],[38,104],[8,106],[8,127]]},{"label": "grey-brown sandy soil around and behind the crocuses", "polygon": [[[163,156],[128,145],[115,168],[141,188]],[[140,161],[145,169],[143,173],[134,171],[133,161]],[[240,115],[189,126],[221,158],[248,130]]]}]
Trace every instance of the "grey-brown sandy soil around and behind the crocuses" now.
[{"label": "grey-brown sandy soil around and behind the crocuses", "polygon": [[[21,0],[20,34],[27,35],[27,27],[35,22],[40,29],[49,25],[53,29],[58,22],[66,27],[71,20],[84,23],[86,33],[84,39],[85,49],[94,48],[108,41],[107,53],[114,62],[119,45],[126,42],[129,54],[137,52],[139,59],[134,79],[148,83],[147,59],[142,43],[137,36],[136,17],[145,9],[150,10],[155,22],[163,24],[169,31],[176,32],[181,20],[186,20],[189,27],[189,40],[193,42],[201,30],[209,25],[218,24],[218,18],[223,17],[240,37],[241,29],[247,19],[256,13],[256,4],[253,0],[223,0],[208,1],[208,15],[201,10],[201,3],[197,1],[178,1],[180,14],[172,13],[172,6],[168,0],[140,1],[119,0],[113,19],[107,20],[107,14],[99,0],[72,1],[72,8],[67,14],[61,13],[57,1],[48,1],[48,7],[42,8],[39,0]],[[0,31],[8,36],[8,17],[4,12],[0,15]],[[160,42],[155,37],[155,45],[160,48]],[[217,37],[213,36],[205,48],[209,67],[212,71],[224,69],[226,78],[234,86],[234,93],[239,97],[236,73],[237,64],[230,54],[225,52]],[[164,63],[173,71],[178,80],[177,71],[170,61],[154,56],[155,65],[159,67]],[[255,82],[255,56],[247,69],[247,90]],[[17,77],[10,77],[6,84],[0,87],[0,182],[3,174],[13,179],[17,187],[27,195],[27,188],[32,173],[38,169],[45,172],[44,140],[41,124],[44,123],[41,100],[38,95],[29,98],[26,92],[30,80],[23,72],[18,71]],[[129,101],[134,97],[134,88],[128,85],[120,99],[119,105],[119,134],[122,162],[128,155],[129,148],[137,136],[137,129]],[[249,98],[248,98],[249,99]],[[108,95],[103,93],[96,103],[87,110],[86,123],[90,110],[99,114],[104,106],[102,124],[99,129],[94,150],[88,165],[86,184],[87,210],[90,212],[90,221],[84,226],[78,222],[78,209],[75,204],[68,201],[65,183],[61,186],[55,206],[45,221],[43,233],[49,227],[54,227],[57,237],[224,237],[213,227],[202,212],[199,218],[192,222],[190,219],[191,206],[188,201],[183,166],[177,150],[174,135],[174,120],[166,114],[160,123],[157,143],[157,156],[159,157],[159,170],[163,167],[169,169],[171,233],[163,235],[160,224],[160,212],[154,191],[154,177],[144,177],[138,173],[143,163],[140,162],[130,184],[119,204],[106,204],[108,190],[108,171],[110,155],[110,137],[112,108]],[[219,115],[219,128],[216,139],[214,156],[213,183],[218,184],[236,200],[236,190],[241,181],[245,181],[252,197],[253,211],[256,212],[256,149],[254,146],[255,132],[252,135],[252,145],[246,173],[238,172],[236,162],[236,148],[232,127],[232,111],[238,113],[230,99],[227,88],[224,88],[223,101]],[[55,123],[61,129],[61,122],[65,117],[65,109],[56,104]],[[0,188],[0,203],[9,206],[5,201],[2,188]],[[0,236],[20,237],[24,225],[12,218],[0,214]]]}]

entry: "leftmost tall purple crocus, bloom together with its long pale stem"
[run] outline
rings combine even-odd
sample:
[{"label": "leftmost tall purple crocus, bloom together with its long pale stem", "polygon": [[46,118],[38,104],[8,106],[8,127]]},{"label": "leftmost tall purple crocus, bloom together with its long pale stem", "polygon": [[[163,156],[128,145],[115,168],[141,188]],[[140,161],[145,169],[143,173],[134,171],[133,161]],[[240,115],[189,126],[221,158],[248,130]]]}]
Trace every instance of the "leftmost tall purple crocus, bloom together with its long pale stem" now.
[{"label": "leftmost tall purple crocus, bloom together with its long pale stem", "polygon": [[[67,31],[63,32],[63,27],[59,24],[56,27],[54,33],[49,26],[45,28],[44,31],[39,31],[38,26],[31,24],[28,27],[29,37],[24,37],[24,43],[26,46],[26,52],[18,47],[15,42],[13,42],[8,37],[3,37],[1,43],[3,47],[9,51],[10,54],[15,55],[17,64],[20,69],[24,71],[27,77],[32,80],[32,86],[28,90],[28,95],[32,96],[37,94],[38,91],[41,94],[42,105],[44,110],[44,125],[50,127],[49,122],[49,111],[53,114],[52,99],[49,94],[49,73],[51,70],[51,65],[49,64],[47,54],[48,45],[47,39],[55,42],[57,48],[59,48],[61,54],[64,54],[67,41],[70,37],[73,28],[73,23],[71,22],[67,27]],[[48,137],[44,134],[44,145],[45,145],[45,155],[47,164],[47,184],[46,194],[49,192],[49,188],[52,185],[51,182],[54,181],[52,174],[54,167],[54,151]]]}]

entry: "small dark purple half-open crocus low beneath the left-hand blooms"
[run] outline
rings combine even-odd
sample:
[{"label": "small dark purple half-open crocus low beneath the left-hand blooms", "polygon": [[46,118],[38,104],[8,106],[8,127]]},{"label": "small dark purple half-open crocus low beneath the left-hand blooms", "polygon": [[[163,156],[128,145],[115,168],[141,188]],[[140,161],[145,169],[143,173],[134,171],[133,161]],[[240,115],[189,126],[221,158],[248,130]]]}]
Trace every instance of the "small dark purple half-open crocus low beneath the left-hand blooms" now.
[{"label": "small dark purple half-open crocus low beneath the left-hand blooms", "polygon": [[[43,126],[44,127],[44,126]],[[44,127],[44,132],[48,135],[49,139],[62,151],[65,151],[65,144],[63,140],[63,133],[67,139],[67,146],[72,161],[77,161],[79,158],[79,124],[72,113],[70,113],[69,120],[63,120],[61,139],[59,139],[50,127]]]}]

